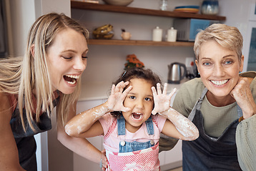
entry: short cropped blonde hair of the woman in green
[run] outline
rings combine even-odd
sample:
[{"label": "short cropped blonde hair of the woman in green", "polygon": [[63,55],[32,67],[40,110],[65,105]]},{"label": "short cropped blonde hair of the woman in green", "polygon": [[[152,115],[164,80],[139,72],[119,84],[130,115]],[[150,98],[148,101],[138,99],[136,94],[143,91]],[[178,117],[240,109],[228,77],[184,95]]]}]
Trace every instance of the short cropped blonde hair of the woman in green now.
[{"label": "short cropped blonde hair of the woman in green", "polygon": [[231,51],[236,51],[239,61],[242,57],[242,34],[236,27],[225,24],[212,24],[197,33],[194,44],[195,57],[199,60],[200,46],[206,41],[214,40]]}]

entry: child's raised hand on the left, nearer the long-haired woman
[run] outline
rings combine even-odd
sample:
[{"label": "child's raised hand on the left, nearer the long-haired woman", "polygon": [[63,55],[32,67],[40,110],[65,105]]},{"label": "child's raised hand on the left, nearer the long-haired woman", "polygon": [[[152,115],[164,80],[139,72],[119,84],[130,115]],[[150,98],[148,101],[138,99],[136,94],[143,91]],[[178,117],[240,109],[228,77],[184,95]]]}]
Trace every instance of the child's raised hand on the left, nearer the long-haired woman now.
[{"label": "child's raised hand on the left, nearer the long-haired woman", "polygon": [[[129,86],[126,90],[124,88],[129,85],[129,82],[121,81],[117,84],[117,86],[112,86],[111,94],[109,96],[109,99],[107,100],[107,105],[109,110],[112,111],[123,111],[127,112],[131,110],[130,108],[124,107],[124,99],[126,98],[127,94],[130,90],[132,90],[132,86]],[[124,92],[123,92],[124,90]]]}]

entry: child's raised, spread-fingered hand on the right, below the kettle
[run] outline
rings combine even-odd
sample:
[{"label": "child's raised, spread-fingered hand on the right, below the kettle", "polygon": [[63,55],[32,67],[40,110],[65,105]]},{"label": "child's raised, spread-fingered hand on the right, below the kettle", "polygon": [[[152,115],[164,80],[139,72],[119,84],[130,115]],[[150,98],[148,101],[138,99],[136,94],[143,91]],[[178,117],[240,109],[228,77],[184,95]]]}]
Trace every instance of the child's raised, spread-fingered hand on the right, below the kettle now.
[{"label": "child's raised, spread-fingered hand on the right, below the kettle", "polygon": [[167,95],[167,83],[164,83],[163,91],[161,90],[160,83],[157,83],[157,90],[154,87],[151,89],[154,97],[154,109],[152,110],[152,114],[155,115],[168,110],[170,108],[172,95],[174,95],[176,88],[174,88],[169,95]]}]

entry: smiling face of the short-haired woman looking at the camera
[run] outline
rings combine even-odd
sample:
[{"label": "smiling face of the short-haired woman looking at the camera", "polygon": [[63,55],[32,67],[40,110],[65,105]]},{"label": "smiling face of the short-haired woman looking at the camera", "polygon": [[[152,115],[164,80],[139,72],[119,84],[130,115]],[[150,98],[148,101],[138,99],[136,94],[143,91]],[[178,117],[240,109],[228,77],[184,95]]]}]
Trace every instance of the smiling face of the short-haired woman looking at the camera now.
[{"label": "smiling face of the short-haired woman looking at the camera", "polygon": [[212,40],[202,43],[196,64],[205,87],[216,98],[223,98],[236,86],[243,61],[243,56],[239,61],[235,51]]}]

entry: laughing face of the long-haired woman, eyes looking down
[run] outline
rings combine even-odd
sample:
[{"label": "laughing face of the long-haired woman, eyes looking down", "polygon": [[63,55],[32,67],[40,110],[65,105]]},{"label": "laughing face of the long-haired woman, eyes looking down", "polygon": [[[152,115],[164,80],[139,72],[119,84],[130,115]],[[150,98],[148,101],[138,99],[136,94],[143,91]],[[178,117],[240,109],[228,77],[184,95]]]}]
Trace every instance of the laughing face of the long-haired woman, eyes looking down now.
[{"label": "laughing face of the long-haired woman, eyes looking down", "polygon": [[54,90],[73,93],[87,66],[86,38],[72,28],[60,31],[47,49],[49,74]]}]

